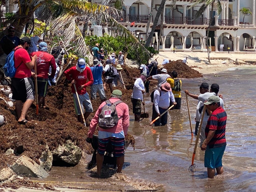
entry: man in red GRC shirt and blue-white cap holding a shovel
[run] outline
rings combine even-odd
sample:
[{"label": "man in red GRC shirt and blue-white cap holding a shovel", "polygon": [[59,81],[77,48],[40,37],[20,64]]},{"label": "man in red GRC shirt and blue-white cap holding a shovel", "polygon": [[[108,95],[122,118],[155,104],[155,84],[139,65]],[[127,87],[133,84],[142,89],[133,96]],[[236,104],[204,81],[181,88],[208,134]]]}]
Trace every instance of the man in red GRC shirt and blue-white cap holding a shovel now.
[{"label": "man in red GRC shirt and blue-white cap holding a shovel", "polygon": [[[84,119],[86,120],[90,113],[93,112],[89,94],[86,92],[86,87],[91,86],[93,84],[92,71],[89,67],[86,67],[85,60],[83,58],[80,58],[77,61],[77,65],[66,70],[64,72],[64,75],[67,77],[68,80],[72,82],[72,84],[76,85],[78,97],[82,105],[81,107],[84,114]],[[88,82],[86,82],[87,80]],[[71,92],[73,93],[73,98],[75,101],[77,119],[80,123],[83,123],[79,103],[73,85],[71,86]],[[83,109],[83,104],[85,106],[85,113]]]}]

